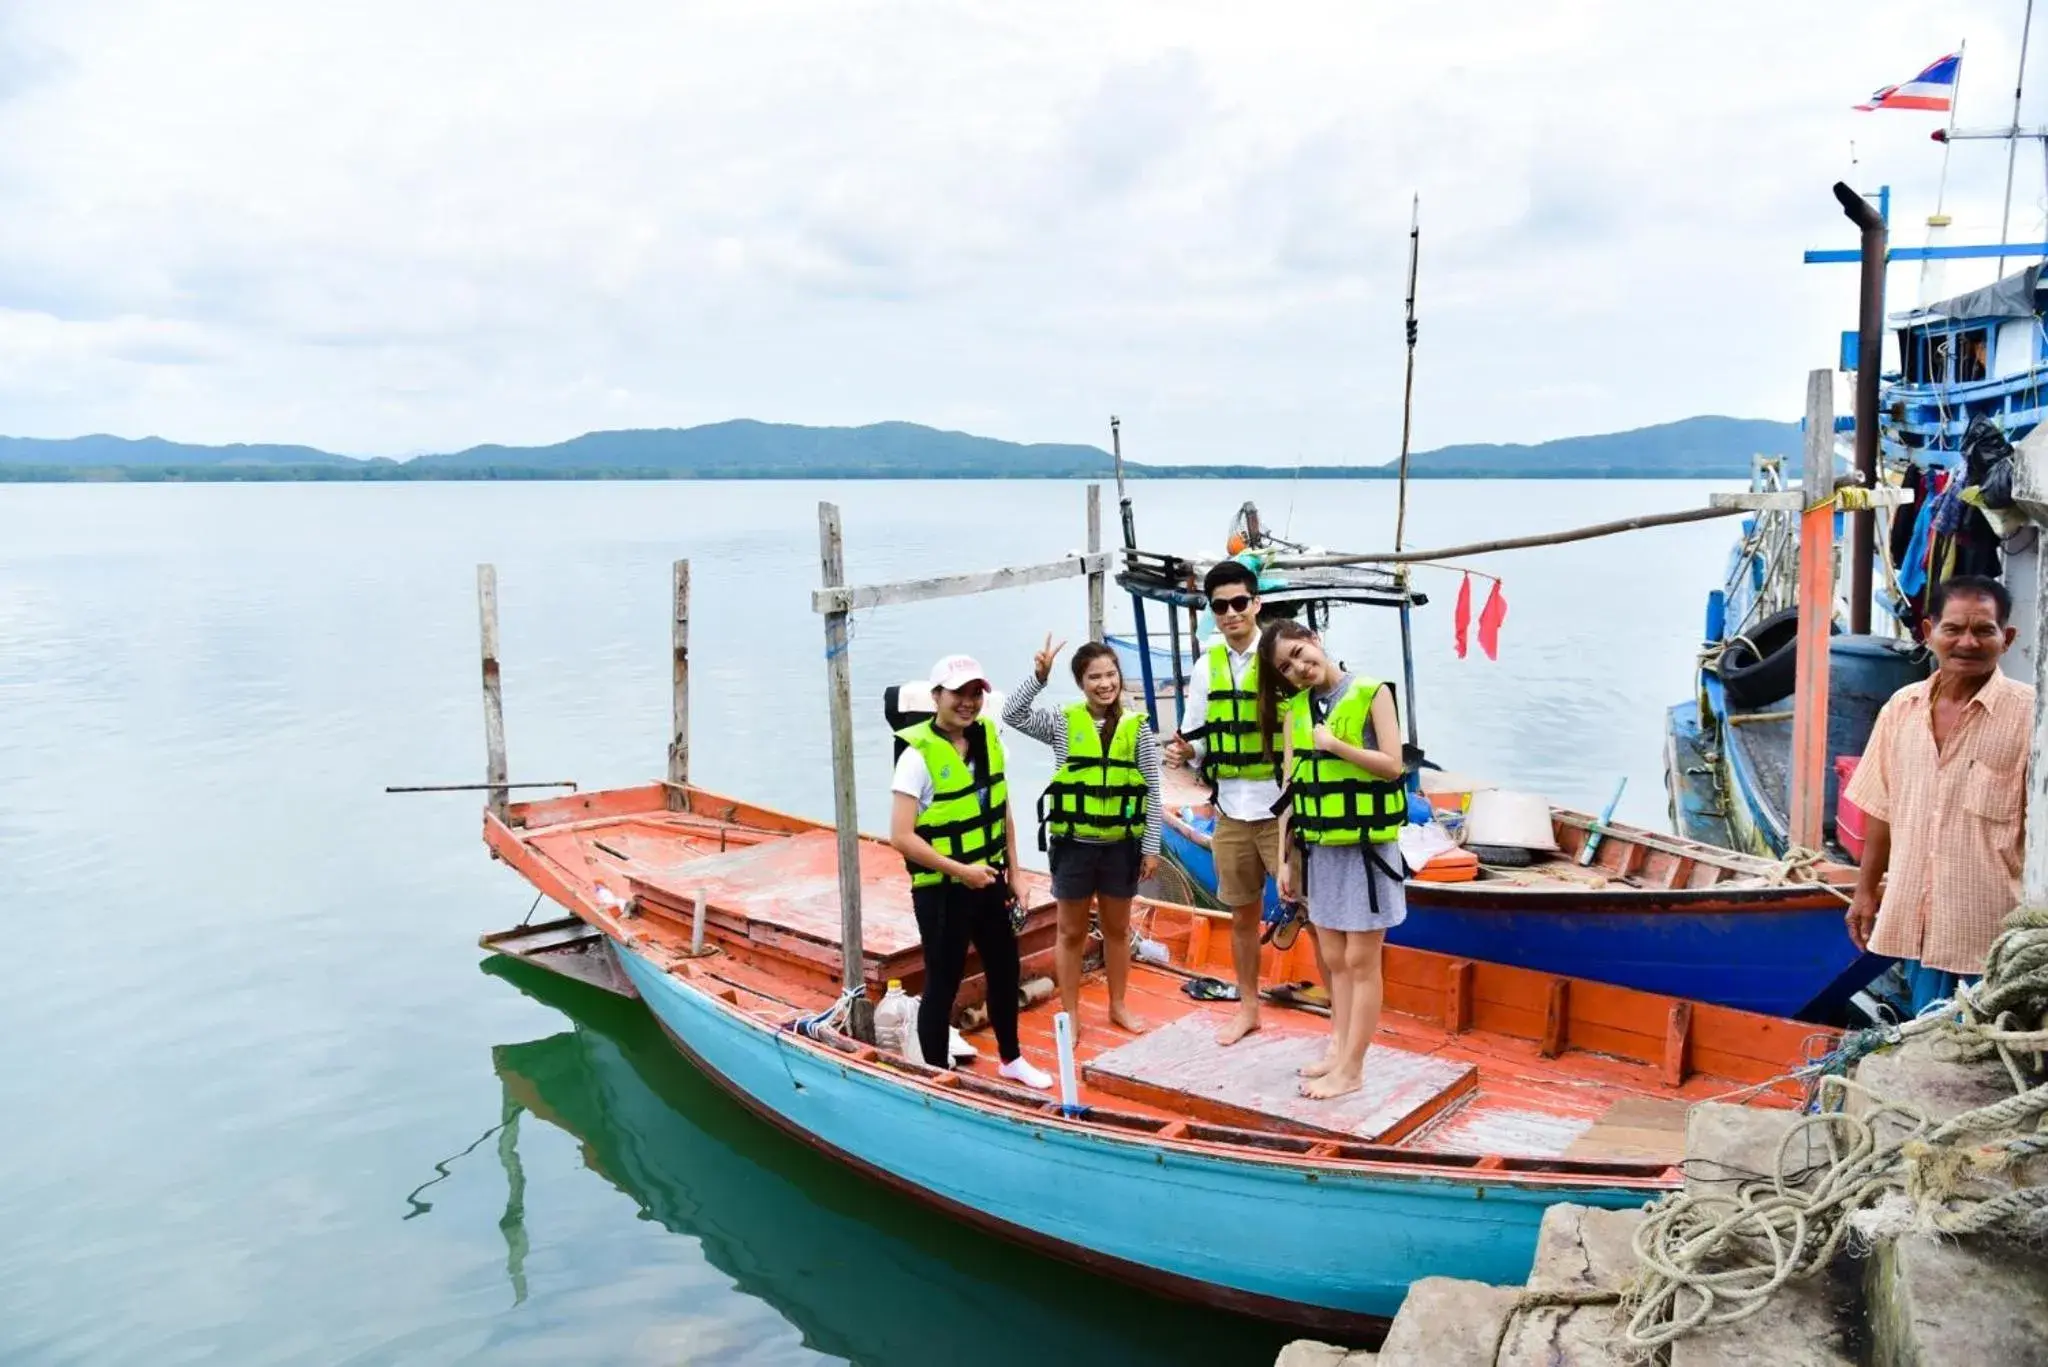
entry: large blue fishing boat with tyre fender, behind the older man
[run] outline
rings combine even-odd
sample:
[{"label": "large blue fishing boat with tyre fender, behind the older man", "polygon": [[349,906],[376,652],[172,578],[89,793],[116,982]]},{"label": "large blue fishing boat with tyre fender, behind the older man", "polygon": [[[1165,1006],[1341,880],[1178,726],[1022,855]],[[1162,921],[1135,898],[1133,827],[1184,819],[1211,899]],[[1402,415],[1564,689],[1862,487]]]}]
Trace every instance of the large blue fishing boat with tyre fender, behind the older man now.
[{"label": "large blue fishing boat with tyre fender, behind the older man", "polygon": [[[2021,66],[2025,51],[2021,49]],[[1948,129],[1944,143],[2040,139],[2015,123]],[[1946,164],[1944,164],[1946,184]],[[1882,703],[1925,678],[1931,660],[1919,625],[1931,584],[1950,574],[1991,574],[2013,590],[2017,648],[2003,668],[2034,678],[2040,621],[2038,549],[2011,510],[2011,447],[2038,426],[2048,398],[2048,283],[2038,258],[2048,242],[1946,244],[1950,217],[1935,207],[1929,244],[1890,246],[1890,191],[1862,197],[1835,187],[1862,230],[1853,250],[1815,250],[1815,264],[1862,262],[1858,330],[1843,334],[1841,371],[1853,383],[1853,416],[1835,422],[1837,484],[1903,486],[1913,502],[1837,512],[1833,537],[1841,586],[1833,605],[1827,691],[1823,842],[1831,857],[1862,853],[1858,814],[1841,803]],[[2009,262],[2036,258],[2019,271]],[[1921,303],[1886,318],[1894,262],[1921,264]],[[1978,289],[1933,297],[1944,262],[2003,268]],[[1778,457],[1759,457],[1755,492],[1792,488]],[[1706,594],[1704,646],[1694,697],[1669,709],[1665,777],[1677,828],[1698,840],[1767,857],[1796,855],[1790,820],[1790,703],[1798,666],[1796,512],[1745,519],[1722,584]]]}]

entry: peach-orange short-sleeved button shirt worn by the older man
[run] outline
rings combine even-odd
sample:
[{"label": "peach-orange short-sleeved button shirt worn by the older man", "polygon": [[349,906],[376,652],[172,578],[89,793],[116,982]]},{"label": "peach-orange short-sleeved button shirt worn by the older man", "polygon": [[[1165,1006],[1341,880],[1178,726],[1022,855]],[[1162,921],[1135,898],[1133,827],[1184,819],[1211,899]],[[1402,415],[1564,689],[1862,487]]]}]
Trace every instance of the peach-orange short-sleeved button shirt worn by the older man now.
[{"label": "peach-orange short-sleeved button shirt worn by the older man", "polygon": [[1933,744],[1931,693],[1933,678],[1884,703],[1845,797],[1892,828],[1870,949],[1974,976],[2019,906],[2034,689],[1993,674],[1946,750]]}]

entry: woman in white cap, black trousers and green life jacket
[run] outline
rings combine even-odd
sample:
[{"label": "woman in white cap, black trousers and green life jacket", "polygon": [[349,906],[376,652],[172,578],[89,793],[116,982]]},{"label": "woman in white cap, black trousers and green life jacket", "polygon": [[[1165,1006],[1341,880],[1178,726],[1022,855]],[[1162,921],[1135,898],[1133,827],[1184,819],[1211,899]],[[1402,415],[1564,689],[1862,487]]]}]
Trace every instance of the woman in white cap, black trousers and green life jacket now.
[{"label": "woman in white cap, black trousers and green life jacket", "polygon": [[909,900],[924,943],[924,998],[918,1047],[948,1064],[952,1002],[967,967],[967,947],[981,953],[989,1025],[1001,1076],[1034,1088],[1053,1086],[1018,1047],[1018,941],[1010,904],[1024,896],[1010,820],[1010,783],[995,723],[983,719],[987,674],[971,656],[932,666],[932,719],[897,732],[889,844],[909,865]]}]

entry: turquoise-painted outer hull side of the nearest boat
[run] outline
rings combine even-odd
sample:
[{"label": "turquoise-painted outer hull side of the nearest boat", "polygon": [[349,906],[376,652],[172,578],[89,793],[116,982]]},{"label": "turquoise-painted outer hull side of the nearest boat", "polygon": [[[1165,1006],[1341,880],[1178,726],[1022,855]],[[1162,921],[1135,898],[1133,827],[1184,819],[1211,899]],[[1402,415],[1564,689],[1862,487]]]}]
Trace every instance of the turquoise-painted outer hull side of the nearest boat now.
[{"label": "turquoise-painted outer hull side of the nearest boat", "polygon": [[1548,1205],[1622,1209],[1657,1195],[1192,1152],[1020,1115],[776,1031],[627,947],[618,959],[686,1058],[805,1144],[993,1234],[1272,1320],[1364,1332],[1419,1277],[1520,1283]]}]

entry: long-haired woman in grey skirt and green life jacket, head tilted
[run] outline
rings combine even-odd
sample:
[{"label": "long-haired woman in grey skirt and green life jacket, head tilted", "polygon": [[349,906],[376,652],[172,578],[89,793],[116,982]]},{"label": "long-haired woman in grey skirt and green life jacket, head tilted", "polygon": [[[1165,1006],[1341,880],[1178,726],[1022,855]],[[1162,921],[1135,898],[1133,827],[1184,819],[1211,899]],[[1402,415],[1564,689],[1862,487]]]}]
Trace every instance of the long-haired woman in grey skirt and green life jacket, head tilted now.
[{"label": "long-haired woman in grey skirt and green life jacket, head tilted", "polygon": [[1348,674],[1296,621],[1266,629],[1260,682],[1262,723],[1270,719],[1284,740],[1282,846],[1292,834],[1303,848],[1305,885],[1294,887],[1296,867],[1282,861],[1280,896],[1307,898],[1329,978],[1329,1051],[1300,1070],[1300,1092],[1341,1096],[1362,1084],[1366,1049],[1380,1029],[1380,949],[1386,930],[1407,918],[1395,842],[1407,818],[1401,719],[1393,689]]}]

